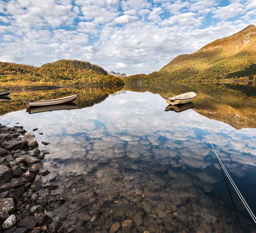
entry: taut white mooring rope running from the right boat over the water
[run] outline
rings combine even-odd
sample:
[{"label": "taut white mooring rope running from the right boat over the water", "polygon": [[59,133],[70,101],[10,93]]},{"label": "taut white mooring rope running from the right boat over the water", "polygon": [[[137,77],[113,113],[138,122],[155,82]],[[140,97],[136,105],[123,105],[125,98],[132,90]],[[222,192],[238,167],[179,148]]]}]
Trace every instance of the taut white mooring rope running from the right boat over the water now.
[{"label": "taut white mooring rope running from the right boat over the water", "polygon": [[[195,105],[195,104],[194,104],[194,105]],[[195,109],[196,109],[196,111],[197,111],[196,105],[195,105]],[[198,113],[198,111],[197,111],[197,113]],[[199,120],[201,121],[200,118],[199,118]],[[255,215],[253,214],[252,210],[251,210],[250,207],[248,206],[247,202],[244,200],[244,198],[243,198],[241,192],[240,192],[239,189],[237,188],[236,184],[233,182],[233,180],[232,180],[231,176],[229,175],[227,169],[225,168],[225,166],[223,165],[223,163],[222,163],[221,159],[219,158],[217,152],[215,151],[214,146],[213,146],[213,144],[212,144],[212,142],[211,142],[211,140],[210,140],[210,138],[209,138],[209,136],[208,136],[208,134],[207,134],[207,131],[206,131],[205,128],[204,128],[204,125],[203,125],[202,121],[201,121],[201,124],[202,124],[202,126],[203,126],[203,129],[204,129],[204,132],[205,132],[206,136],[208,137],[208,140],[209,140],[209,142],[210,142],[210,144],[211,144],[211,146],[212,146],[212,149],[213,149],[213,151],[214,151],[214,153],[215,153],[215,155],[216,155],[216,157],[217,157],[217,160],[218,160],[219,164],[220,164],[221,167],[223,168],[223,170],[224,170],[225,174],[227,175],[227,177],[228,177],[230,183],[232,184],[234,190],[236,190],[238,196],[240,197],[240,199],[241,199],[241,201],[243,202],[245,208],[247,209],[247,211],[248,211],[249,214],[251,215],[253,221],[256,223],[256,217],[255,217]]]}]

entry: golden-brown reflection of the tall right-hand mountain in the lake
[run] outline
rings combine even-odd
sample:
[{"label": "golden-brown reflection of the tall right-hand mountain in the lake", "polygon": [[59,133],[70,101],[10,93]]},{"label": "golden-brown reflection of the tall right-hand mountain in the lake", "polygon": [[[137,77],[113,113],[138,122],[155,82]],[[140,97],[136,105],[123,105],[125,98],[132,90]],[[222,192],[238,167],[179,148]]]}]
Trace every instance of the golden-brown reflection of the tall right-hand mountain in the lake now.
[{"label": "golden-brown reflection of the tall right-hand mountain in the lake", "polygon": [[207,118],[225,122],[236,129],[242,129],[256,128],[255,84],[155,84],[154,86],[127,84],[123,89],[138,92],[149,91],[159,94],[163,98],[194,91],[197,96],[193,100],[196,106],[196,108],[192,108],[193,110]]}]

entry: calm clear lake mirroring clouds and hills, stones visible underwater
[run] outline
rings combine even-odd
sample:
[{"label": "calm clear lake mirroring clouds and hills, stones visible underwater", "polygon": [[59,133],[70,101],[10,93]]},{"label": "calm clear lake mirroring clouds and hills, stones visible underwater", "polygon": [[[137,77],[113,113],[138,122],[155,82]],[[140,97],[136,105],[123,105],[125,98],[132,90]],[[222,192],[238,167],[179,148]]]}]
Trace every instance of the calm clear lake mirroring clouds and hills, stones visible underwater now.
[{"label": "calm clear lake mirroring clouds and hills, stones visible underwater", "polygon": [[[187,91],[197,93],[195,107],[168,107],[165,97]],[[69,110],[24,104],[75,93],[75,105],[63,107]],[[49,215],[67,215],[63,225],[108,232],[129,219],[130,232],[256,231],[227,180],[237,217],[204,132],[255,214],[255,83],[61,88],[9,97],[0,100],[0,123],[19,123],[35,134],[40,150],[49,150],[44,167],[51,173],[43,180],[56,175],[53,191],[68,195]]]}]

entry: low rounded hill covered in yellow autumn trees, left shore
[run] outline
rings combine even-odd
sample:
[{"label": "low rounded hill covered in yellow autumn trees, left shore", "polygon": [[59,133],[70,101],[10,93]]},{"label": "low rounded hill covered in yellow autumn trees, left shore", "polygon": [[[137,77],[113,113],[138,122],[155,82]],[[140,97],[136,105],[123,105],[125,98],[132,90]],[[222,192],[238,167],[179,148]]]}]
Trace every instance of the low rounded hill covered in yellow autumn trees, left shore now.
[{"label": "low rounded hill covered in yellow autumn trees, left shore", "polygon": [[122,84],[102,67],[85,61],[58,60],[41,67],[0,62],[0,86],[70,86],[74,84]]}]

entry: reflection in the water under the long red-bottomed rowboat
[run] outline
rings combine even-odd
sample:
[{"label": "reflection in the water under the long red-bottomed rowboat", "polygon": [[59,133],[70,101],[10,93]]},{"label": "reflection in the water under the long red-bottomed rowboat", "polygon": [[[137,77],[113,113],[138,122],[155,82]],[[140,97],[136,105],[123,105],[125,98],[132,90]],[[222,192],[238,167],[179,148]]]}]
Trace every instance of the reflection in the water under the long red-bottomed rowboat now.
[{"label": "reflection in the water under the long red-bottomed rowboat", "polygon": [[66,104],[59,104],[59,105],[52,105],[52,106],[42,106],[39,108],[36,107],[29,107],[27,108],[27,112],[29,114],[38,113],[38,112],[47,112],[47,111],[56,111],[56,110],[71,110],[71,109],[78,109],[77,105],[74,103],[66,103]]}]

